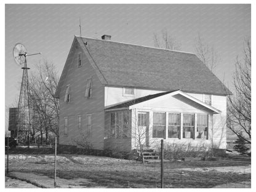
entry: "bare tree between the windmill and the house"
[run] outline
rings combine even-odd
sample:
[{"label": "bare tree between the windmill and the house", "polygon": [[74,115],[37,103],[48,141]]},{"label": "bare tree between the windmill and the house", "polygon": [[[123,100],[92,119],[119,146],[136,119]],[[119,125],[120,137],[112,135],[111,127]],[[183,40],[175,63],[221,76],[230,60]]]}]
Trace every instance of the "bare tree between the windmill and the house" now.
[{"label": "bare tree between the windmill and the house", "polygon": [[54,65],[41,60],[37,65],[38,73],[32,74],[30,78],[30,99],[32,107],[33,134],[36,132],[46,135],[46,143],[49,141],[49,133],[58,137],[59,103],[54,97],[57,89],[58,76]]}]

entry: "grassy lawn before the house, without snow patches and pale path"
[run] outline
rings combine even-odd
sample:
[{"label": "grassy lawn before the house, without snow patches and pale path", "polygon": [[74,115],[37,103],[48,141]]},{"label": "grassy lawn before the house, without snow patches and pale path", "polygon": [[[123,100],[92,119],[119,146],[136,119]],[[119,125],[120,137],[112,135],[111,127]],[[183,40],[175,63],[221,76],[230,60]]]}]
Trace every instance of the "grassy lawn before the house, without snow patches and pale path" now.
[{"label": "grassy lawn before the house, without snow patches and pale path", "polygon": [[[30,158],[31,157],[31,158]],[[54,178],[52,156],[30,155],[23,160],[11,158],[10,171],[45,175]],[[33,158],[32,158],[33,157]],[[100,156],[63,155],[57,161],[57,177],[71,180],[89,179],[84,187],[108,188],[159,188],[160,163],[142,164],[138,161],[113,159]],[[164,162],[165,188],[211,188],[225,183],[250,180],[250,174],[233,172],[178,170],[178,168],[246,166],[250,158],[236,156],[218,161],[186,159],[184,162]]]}]

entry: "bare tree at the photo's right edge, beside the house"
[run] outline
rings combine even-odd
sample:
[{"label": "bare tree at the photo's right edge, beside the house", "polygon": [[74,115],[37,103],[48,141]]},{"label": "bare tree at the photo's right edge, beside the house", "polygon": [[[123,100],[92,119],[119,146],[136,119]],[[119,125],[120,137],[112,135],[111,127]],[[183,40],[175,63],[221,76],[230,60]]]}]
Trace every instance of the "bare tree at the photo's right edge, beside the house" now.
[{"label": "bare tree at the photo's right edge, beside the house", "polygon": [[235,93],[228,96],[227,127],[247,143],[251,140],[251,49],[250,36],[244,40],[243,60],[236,58],[233,75]]}]

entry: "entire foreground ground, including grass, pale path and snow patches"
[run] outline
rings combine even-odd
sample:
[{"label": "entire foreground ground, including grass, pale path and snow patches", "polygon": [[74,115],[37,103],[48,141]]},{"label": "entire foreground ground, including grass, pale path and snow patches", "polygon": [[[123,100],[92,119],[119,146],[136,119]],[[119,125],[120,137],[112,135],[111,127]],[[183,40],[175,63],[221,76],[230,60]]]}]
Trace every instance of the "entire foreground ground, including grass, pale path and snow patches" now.
[{"label": "entire foreground ground, including grass, pale path and snow patches", "polygon": [[[250,159],[234,159],[164,162],[165,187],[250,188]],[[53,155],[11,154],[9,162],[6,188],[54,187]],[[159,170],[159,162],[142,164],[99,156],[63,155],[57,156],[57,187],[158,188]]]}]

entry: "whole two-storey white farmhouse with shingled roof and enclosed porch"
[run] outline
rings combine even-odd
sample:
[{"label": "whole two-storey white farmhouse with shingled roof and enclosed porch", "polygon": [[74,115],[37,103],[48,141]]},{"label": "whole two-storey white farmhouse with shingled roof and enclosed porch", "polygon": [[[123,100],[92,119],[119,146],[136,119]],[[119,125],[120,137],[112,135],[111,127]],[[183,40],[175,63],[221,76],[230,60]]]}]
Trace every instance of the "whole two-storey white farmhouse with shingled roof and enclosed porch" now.
[{"label": "whole two-storey white farmhouse with shingled roof and enclosed porch", "polygon": [[130,151],[138,142],[226,149],[230,90],[195,54],[74,36],[58,83],[61,145]]}]

